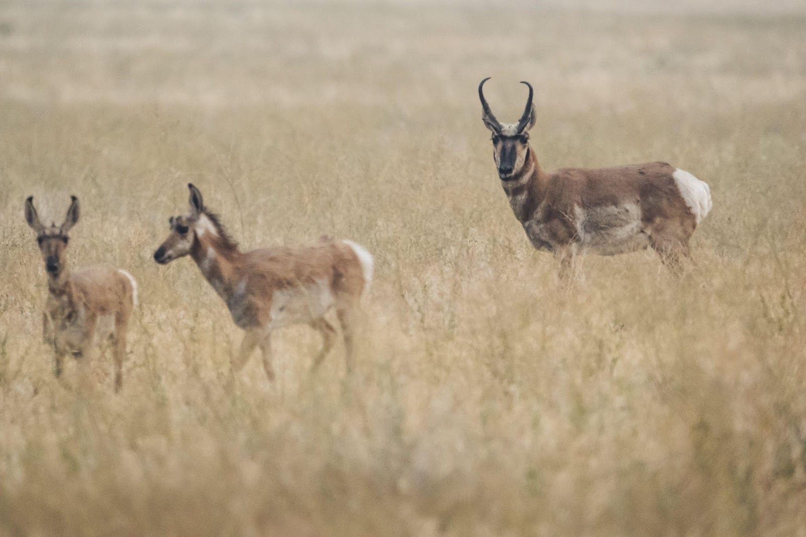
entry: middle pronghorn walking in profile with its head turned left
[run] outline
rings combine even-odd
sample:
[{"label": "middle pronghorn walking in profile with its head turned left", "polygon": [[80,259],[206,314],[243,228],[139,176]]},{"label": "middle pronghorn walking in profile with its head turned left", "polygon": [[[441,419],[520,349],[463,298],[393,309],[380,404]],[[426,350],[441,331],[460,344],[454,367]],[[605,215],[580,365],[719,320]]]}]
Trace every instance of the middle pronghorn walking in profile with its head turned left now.
[{"label": "middle pronghorn walking in profile with its head turned left", "polygon": [[246,331],[232,361],[238,373],[256,347],[263,355],[269,381],[274,379],[271,333],[276,328],[307,323],[322,333],[322,350],[314,358],[316,369],[333,347],[336,329],[325,318],[336,310],[342,325],[351,369],[355,315],[372,281],[372,256],[349,240],[323,240],[297,248],[265,248],[241,252],[218,216],[206,209],[202,193],[190,189],[190,213],[169,219],[171,231],[154,260],[166,264],[191,256],[232,320]]}]

